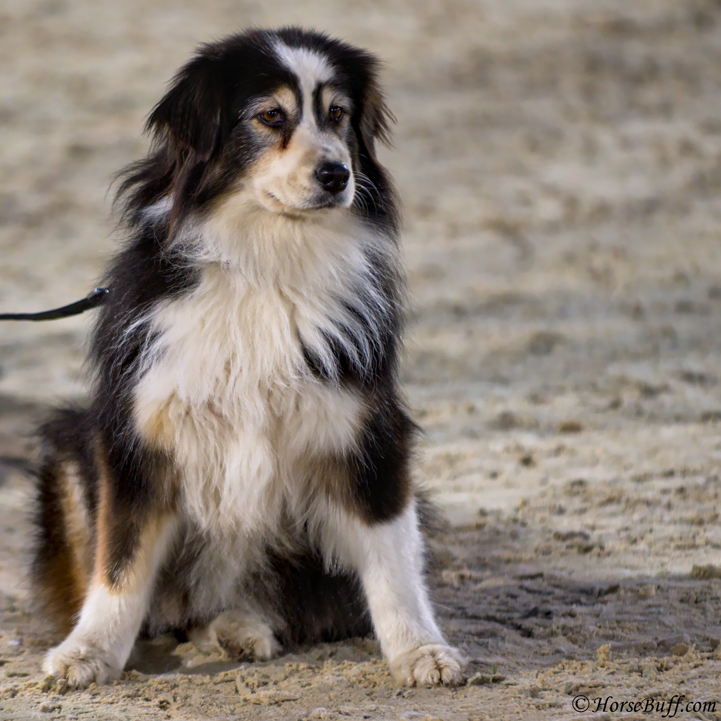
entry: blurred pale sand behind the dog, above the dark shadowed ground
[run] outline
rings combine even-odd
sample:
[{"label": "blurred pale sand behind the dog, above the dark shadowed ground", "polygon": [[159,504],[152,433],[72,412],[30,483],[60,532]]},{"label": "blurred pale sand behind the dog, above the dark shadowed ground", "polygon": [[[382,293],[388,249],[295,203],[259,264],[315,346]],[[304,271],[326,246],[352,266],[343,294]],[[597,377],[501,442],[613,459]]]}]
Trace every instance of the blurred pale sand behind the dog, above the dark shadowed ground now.
[{"label": "blurred pale sand behind the dog, above the dark shadowed ground", "polygon": [[[578,478],[718,480],[715,0],[4,0],[0,310],[94,286],[122,239],[112,175],[146,151],[143,120],[197,43],[288,23],[386,63],[398,123],[382,159],[412,299],[403,377],[426,431],[419,477],[451,518],[541,508]],[[7,514],[27,506],[14,469],[32,417],[83,396],[91,320],[0,324]],[[609,533],[640,523],[608,510]],[[698,553],[717,557],[717,526],[702,526]]]}]

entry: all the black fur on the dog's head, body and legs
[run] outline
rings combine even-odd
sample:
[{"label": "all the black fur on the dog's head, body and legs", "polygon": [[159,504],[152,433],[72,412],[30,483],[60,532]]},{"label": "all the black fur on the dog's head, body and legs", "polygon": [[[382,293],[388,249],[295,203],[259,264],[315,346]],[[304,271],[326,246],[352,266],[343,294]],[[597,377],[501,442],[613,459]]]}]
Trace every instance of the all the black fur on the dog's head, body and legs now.
[{"label": "all the black fur on the dog's head, body and legs", "polygon": [[[388,242],[396,242],[394,190],[376,160],[375,143],[388,141],[392,119],[376,84],[376,58],[322,33],[293,27],[275,32],[251,30],[203,45],[149,116],[147,131],[153,137],[149,155],[120,174],[117,202],[129,239],[104,280],[112,291],[92,335],[92,402],[87,411],[58,415],[41,429],[49,451],[38,486],[34,568],[40,588],[66,593],[51,578],[52,565],[64,562],[58,550],[65,539],[55,487],[63,459],[73,459],[84,469],[87,509],[93,518],[98,479],[107,474],[112,544],[105,571],[113,584],[133,557],[146,516],[163,503],[172,503],[163,497],[158,481],[158,474],[172,459],[148,448],[133,427],[138,363],[152,340],[142,319],[155,304],[189,293],[198,282],[198,271],[174,251],[172,241],[187,218],[203,216],[256,158],[257,144],[239,122],[249,101],[280,84],[296,86],[293,74],[273,53],[272,44],[278,39],[291,47],[317,50],[332,64],[335,82],[353,103],[349,143],[358,183],[353,211]],[[149,216],[148,208],[167,197],[172,198],[169,216]],[[306,361],[325,382],[353,386],[368,399],[372,412],[358,450],[336,460],[350,475],[351,487],[345,493],[348,507],[367,523],[378,523],[397,516],[412,495],[408,463],[415,427],[397,390],[402,278],[382,257],[369,260],[384,298],[383,309],[373,319],[376,329],[360,311],[349,311],[365,329],[371,353],[364,356],[359,347],[359,361],[337,344],[335,368],[322,367],[307,349]],[[183,556],[187,558],[189,552],[189,548],[181,552],[159,577],[158,595],[174,594],[181,599],[181,608],[187,590]],[[278,630],[284,641],[332,640],[371,630],[355,578],[325,571],[310,546],[300,556],[269,554],[271,562],[261,580],[270,594],[268,603],[285,619]],[[174,619],[179,627],[204,620]]]}]

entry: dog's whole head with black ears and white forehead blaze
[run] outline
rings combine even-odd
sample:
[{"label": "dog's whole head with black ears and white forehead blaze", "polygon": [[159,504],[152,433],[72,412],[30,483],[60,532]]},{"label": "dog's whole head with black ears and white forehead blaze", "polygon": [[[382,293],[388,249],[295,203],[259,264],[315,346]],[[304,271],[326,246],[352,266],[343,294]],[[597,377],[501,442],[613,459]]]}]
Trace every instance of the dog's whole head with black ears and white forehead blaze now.
[{"label": "dog's whole head with black ears and white forehead blaze", "polygon": [[375,152],[391,119],[378,65],[363,50],[293,27],[204,45],[150,115],[155,167],[126,181],[136,208],[172,200],[177,220],[233,197],[288,216],[351,207],[389,215]]}]

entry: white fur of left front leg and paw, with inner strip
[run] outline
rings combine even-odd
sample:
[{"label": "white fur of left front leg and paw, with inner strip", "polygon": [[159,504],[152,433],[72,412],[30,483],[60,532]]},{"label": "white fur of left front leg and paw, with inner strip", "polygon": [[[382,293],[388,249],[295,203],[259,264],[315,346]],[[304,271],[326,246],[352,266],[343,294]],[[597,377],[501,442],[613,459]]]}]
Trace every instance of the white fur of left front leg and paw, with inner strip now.
[{"label": "white fur of left front leg and paw, with inner strip", "polygon": [[120,676],[148,611],[156,572],[176,530],[175,518],[164,522],[152,547],[146,549],[146,565],[134,583],[118,590],[97,580],[93,583],[75,628],[45,656],[45,673],[67,678],[73,687],[92,681],[104,684]]}]

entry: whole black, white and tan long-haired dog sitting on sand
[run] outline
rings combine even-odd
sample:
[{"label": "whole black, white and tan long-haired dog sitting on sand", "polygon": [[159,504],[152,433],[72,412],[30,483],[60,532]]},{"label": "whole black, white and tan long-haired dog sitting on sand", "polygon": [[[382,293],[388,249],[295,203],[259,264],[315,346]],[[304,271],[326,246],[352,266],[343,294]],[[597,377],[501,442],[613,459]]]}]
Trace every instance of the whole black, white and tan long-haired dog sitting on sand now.
[{"label": "whole black, white and tan long-haired dog sitting on sand", "polygon": [[251,30],[150,115],[92,402],[42,428],[32,577],[70,686],[118,677],[141,629],[257,659],[374,630],[400,684],[461,676],[423,580],[378,65]]}]

